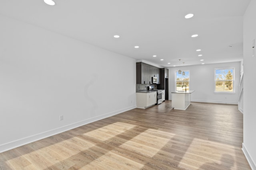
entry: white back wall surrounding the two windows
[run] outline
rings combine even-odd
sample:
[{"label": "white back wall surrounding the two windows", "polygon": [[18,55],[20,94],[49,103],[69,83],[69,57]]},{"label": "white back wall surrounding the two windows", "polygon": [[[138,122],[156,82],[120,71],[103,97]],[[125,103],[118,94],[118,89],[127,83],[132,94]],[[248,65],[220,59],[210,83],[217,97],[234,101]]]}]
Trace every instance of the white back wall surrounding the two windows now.
[{"label": "white back wall surrounding the two windows", "polygon": [[[214,69],[215,68],[235,68],[235,93],[216,94],[214,93]],[[190,84],[189,89],[195,90],[191,94],[193,102],[210,102],[224,104],[238,104],[239,99],[239,83],[240,83],[240,62],[218,63],[218,64],[202,64],[194,66],[176,66],[169,67],[169,100],[172,100],[171,92],[175,90],[175,71],[189,70]]]}]

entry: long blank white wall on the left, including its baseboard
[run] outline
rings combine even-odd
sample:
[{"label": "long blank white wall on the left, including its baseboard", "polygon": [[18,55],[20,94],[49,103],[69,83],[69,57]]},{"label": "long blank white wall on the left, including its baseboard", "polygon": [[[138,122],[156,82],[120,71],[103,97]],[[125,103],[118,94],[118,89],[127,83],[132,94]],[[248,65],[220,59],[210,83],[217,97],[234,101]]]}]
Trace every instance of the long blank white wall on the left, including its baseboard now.
[{"label": "long blank white wall on the left, including its baseboard", "polygon": [[136,60],[0,23],[0,152],[136,107]]}]

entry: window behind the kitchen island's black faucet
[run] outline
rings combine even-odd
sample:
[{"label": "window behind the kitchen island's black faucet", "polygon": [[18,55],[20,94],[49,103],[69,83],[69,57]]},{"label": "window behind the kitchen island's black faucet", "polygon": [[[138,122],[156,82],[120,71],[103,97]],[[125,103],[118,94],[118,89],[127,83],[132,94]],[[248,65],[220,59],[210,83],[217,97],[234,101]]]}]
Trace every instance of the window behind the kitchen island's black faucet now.
[{"label": "window behind the kitchen island's black faucet", "polygon": [[[182,71],[181,74],[178,71],[175,72],[175,84],[176,90],[182,90],[182,85],[186,85],[186,89],[189,90],[189,71]],[[183,87],[185,90],[185,87]]]}]

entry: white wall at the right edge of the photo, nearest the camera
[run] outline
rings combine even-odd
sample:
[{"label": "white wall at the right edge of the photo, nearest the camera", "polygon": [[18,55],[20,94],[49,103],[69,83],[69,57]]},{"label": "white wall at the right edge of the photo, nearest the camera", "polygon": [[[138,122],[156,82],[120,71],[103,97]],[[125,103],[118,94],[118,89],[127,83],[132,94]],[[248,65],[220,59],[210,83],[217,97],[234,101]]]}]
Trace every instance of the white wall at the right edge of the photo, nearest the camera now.
[{"label": "white wall at the right edge of the photo, nearest the camera", "polygon": [[[256,170],[256,57],[252,57],[252,40],[256,39],[256,0],[251,0],[244,14],[244,143],[243,151]],[[254,49],[255,50],[255,49]]]}]

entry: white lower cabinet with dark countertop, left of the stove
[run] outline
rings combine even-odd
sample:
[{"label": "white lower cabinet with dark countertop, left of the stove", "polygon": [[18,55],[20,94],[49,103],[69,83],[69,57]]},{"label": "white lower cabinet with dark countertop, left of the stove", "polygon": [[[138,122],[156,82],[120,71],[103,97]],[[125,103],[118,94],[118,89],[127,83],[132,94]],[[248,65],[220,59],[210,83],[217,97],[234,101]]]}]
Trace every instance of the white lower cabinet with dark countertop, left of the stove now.
[{"label": "white lower cabinet with dark countertop, left of the stove", "polygon": [[157,100],[156,92],[150,92],[150,93],[136,92],[137,108],[146,109],[147,107],[155,105],[156,100]]}]

